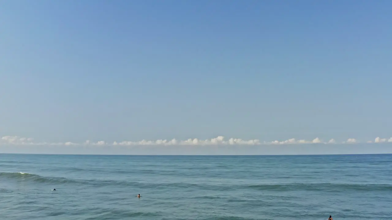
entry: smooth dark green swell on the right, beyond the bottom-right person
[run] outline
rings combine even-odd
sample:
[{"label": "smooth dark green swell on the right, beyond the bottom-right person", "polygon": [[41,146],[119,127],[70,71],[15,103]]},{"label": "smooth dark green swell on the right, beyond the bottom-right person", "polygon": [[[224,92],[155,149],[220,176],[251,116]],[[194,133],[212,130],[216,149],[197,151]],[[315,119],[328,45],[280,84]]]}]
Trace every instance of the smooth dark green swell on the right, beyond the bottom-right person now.
[{"label": "smooth dark green swell on the right, beyond the bottom-right person", "polygon": [[289,183],[289,184],[261,184],[247,186],[251,189],[269,191],[390,191],[391,184],[337,184],[337,183]]}]

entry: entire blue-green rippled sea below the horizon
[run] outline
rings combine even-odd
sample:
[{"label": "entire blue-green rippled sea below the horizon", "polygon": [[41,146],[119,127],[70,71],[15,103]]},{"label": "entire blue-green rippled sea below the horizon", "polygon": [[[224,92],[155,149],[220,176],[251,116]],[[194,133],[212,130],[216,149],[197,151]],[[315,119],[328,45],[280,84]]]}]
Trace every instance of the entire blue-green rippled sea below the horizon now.
[{"label": "entire blue-green rippled sea below the horizon", "polygon": [[390,220],[391,207],[392,155],[0,154],[7,220]]}]

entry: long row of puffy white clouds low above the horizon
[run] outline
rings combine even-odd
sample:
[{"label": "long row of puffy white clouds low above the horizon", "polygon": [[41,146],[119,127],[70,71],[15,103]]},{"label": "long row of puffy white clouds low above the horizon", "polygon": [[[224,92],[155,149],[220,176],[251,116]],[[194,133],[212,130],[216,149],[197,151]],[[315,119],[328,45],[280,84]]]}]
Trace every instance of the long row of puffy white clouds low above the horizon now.
[{"label": "long row of puffy white clouds low above the horizon", "polygon": [[[335,144],[336,141],[335,139],[330,139],[328,142],[322,142],[321,139],[316,137],[312,141],[307,141],[304,139],[296,140],[295,138],[287,139],[285,141],[263,141],[261,142],[259,139],[250,139],[250,140],[244,140],[240,138],[229,138],[226,139],[223,136],[218,136],[212,139],[187,139],[187,140],[177,140],[177,139],[159,139],[156,141],[148,141],[148,140],[142,140],[142,141],[114,141],[112,143],[108,143],[106,141],[98,141],[98,142],[92,142],[90,140],[87,140],[85,142],[33,142],[33,138],[27,138],[27,137],[19,137],[19,136],[4,136],[0,137],[0,144],[7,144],[7,145],[53,145],[53,146],[106,146],[106,145],[115,145],[115,146],[136,146],[136,145],[162,145],[162,146],[167,146],[167,145],[193,145],[193,146],[205,146],[205,145],[277,145],[277,144],[319,144],[319,143],[324,143],[324,144]],[[376,137],[374,140],[374,143],[382,143],[382,142],[392,142],[392,137],[390,139],[386,138],[380,138]],[[343,144],[356,144],[359,143],[357,139],[354,138],[349,138],[347,141],[341,142]],[[373,143],[372,141],[368,141],[368,143]]]}]

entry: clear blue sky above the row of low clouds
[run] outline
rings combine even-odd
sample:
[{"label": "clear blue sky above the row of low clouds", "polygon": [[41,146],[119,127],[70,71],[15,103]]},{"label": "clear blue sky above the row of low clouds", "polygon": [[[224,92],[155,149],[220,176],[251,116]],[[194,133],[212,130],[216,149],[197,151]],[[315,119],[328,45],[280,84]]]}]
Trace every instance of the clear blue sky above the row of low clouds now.
[{"label": "clear blue sky above the row of low clouds", "polygon": [[390,0],[1,1],[0,137],[33,148],[220,135],[388,142],[391,9]]}]

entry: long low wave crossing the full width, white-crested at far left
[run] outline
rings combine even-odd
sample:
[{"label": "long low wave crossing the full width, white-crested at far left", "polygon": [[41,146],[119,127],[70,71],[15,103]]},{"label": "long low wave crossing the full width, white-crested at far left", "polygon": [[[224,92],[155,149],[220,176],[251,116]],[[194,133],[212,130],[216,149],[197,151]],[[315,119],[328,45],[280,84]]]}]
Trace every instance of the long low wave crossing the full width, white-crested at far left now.
[{"label": "long low wave crossing the full width, white-crested at far left", "polygon": [[171,182],[171,183],[152,183],[152,182],[131,182],[127,180],[100,180],[100,179],[71,179],[65,177],[44,177],[31,173],[6,173],[0,172],[1,179],[16,181],[32,181],[48,184],[78,184],[94,187],[105,186],[139,186],[143,188],[182,188],[182,189],[210,189],[225,191],[236,189],[253,189],[265,191],[392,191],[392,184],[348,184],[348,183],[287,183],[287,184],[258,184],[258,185],[231,185],[231,184],[198,184],[192,182]]}]

